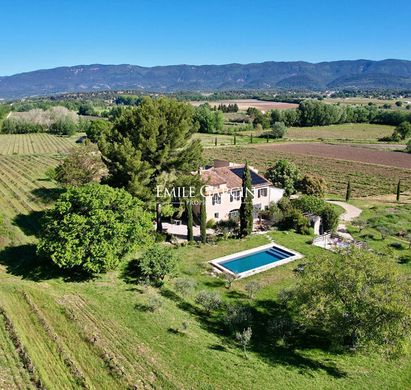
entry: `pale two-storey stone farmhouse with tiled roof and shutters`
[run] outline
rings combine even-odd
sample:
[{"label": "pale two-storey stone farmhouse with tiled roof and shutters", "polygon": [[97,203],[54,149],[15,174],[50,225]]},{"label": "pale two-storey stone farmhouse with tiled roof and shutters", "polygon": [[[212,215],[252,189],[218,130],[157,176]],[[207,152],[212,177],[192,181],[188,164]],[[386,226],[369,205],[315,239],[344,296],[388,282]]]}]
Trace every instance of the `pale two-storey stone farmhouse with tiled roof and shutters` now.
[{"label": "pale two-storey stone farmhouse with tiled roof and shutters", "polygon": [[[277,203],[283,197],[284,190],[274,187],[255,168],[249,168],[254,194],[253,214],[254,218],[258,218],[259,211],[268,208],[272,202]],[[215,160],[212,167],[205,167],[200,174],[206,183],[204,193],[207,220],[213,219],[218,222],[238,218],[241,206],[244,164]],[[195,208],[194,211],[198,213],[199,208]]]}]

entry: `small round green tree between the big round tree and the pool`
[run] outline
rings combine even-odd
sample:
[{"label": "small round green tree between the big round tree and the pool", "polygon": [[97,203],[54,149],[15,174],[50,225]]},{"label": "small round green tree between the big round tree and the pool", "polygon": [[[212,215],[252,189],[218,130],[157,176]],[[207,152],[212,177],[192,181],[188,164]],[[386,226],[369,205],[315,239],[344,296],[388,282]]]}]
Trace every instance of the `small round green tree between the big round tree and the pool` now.
[{"label": "small round green tree between the big round tree and the pool", "polygon": [[138,263],[143,279],[158,285],[162,284],[167,275],[174,274],[177,258],[170,248],[153,245],[146,250]]}]

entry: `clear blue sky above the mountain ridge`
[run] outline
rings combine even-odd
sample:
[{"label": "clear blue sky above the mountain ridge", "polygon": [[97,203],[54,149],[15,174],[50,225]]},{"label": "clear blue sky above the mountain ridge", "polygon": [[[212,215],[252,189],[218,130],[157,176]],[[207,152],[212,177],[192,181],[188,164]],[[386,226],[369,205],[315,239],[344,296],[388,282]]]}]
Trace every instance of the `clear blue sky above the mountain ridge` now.
[{"label": "clear blue sky above the mountain ridge", "polygon": [[2,1],[0,75],[143,66],[411,60],[411,1]]}]

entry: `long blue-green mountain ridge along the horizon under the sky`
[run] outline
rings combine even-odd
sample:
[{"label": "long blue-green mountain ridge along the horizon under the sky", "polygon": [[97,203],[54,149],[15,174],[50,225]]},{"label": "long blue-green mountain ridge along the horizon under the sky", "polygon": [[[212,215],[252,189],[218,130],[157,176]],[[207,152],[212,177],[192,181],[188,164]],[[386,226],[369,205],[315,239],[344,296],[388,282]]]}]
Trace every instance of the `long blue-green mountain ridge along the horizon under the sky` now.
[{"label": "long blue-green mountain ridge along the horizon under the sky", "polygon": [[0,98],[110,89],[172,92],[341,88],[411,89],[411,61],[355,60],[317,64],[298,61],[156,67],[96,64],[0,77]]}]

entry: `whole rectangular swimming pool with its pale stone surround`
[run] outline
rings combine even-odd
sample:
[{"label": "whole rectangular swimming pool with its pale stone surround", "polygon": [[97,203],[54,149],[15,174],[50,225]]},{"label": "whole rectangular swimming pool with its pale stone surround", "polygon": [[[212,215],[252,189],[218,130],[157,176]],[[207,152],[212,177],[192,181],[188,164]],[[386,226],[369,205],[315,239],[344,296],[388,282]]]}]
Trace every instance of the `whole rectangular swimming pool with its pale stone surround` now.
[{"label": "whole rectangular swimming pool with its pale stone surround", "polygon": [[244,278],[302,257],[295,251],[273,243],[220,257],[210,263],[220,271]]}]

